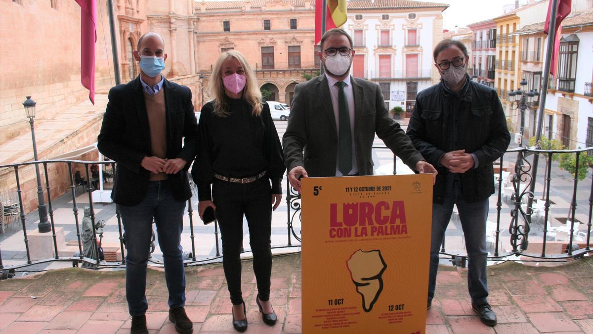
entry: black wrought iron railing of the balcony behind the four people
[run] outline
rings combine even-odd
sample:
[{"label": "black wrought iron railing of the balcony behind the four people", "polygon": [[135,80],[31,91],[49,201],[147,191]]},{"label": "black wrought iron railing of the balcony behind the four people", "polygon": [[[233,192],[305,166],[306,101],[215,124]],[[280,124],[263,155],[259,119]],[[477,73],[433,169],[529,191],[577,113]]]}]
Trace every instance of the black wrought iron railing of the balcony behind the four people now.
[{"label": "black wrought iron railing of the balcony behind the four people", "polygon": [[[373,147],[375,150],[385,150],[386,147]],[[550,192],[551,189],[551,172],[552,172],[552,157],[553,155],[559,155],[561,153],[570,153],[575,155],[575,165],[579,165],[579,158],[581,157],[583,152],[587,150],[591,150],[592,147],[586,147],[585,149],[578,149],[578,150],[538,150],[534,148],[522,148],[519,147],[517,149],[511,149],[505,152],[505,154],[500,157],[498,162],[495,163],[495,170],[496,172],[496,179],[498,180],[495,184],[497,195],[496,195],[496,228],[493,229],[492,235],[489,237],[492,238],[492,243],[495,244],[493,254],[490,254],[489,259],[496,260],[496,259],[507,259],[513,260],[515,256],[522,256],[527,258],[533,259],[540,259],[540,260],[570,260],[576,259],[588,251],[591,250],[591,220],[592,220],[592,212],[593,212],[593,181],[591,182],[591,190],[589,191],[589,198],[588,198],[588,215],[586,221],[584,221],[584,226],[586,226],[585,231],[576,231],[575,222],[576,220],[576,208],[577,208],[577,186],[579,184],[578,181],[578,170],[575,168],[575,171],[572,172],[573,174],[573,181],[572,181],[572,194],[566,194],[566,198],[570,197],[569,202],[569,214],[566,216],[566,219],[569,220],[571,223],[567,224],[566,232],[568,235],[568,240],[566,240],[566,245],[570,245],[566,248],[564,253],[546,253],[546,245],[548,244],[548,237],[554,231],[553,228],[550,228],[549,222],[551,215],[551,200],[550,200]],[[536,187],[536,180],[533,178],[533,166],[537,164],[536,159],[544,157],[546,158],[546,166],[545,166],[545,173],[543,176],[540,175],[538,179],[543,180],[537,184]],[[530,159],[533,158],[533,162],[530,162]],[[514,162],[514,168],[505,172],[504,169],[509,169],[508,166],[512,165],[508,163],[508,161]],[[53,242],[53,254],[50,257],[42,260],[31,260],[30,248],[27,238],[27,215],[24,212],[24,198],[22,196],[23,187],[20,183],[20,171],[29,166],[33,165],[34,163],[39,163],[43,166],[44,170],[44,182],[45,182],[45,195],[47,196],[47,204],[48,204],[48,213],[49,213],[49,220],[50,225],[52,227],[52,242]],[[72,203],[72,213],[74,215],[74,225],[75,225],[75,232],[76,232],[76,245],[78,247],[78,255],[76,256],[64,256],[63,252],[60,251],[58,247],[58,241],[56,240],[56,223],[54,219],[54,212],[52,206],[52,188],[50,187],[50,179],[48,174],[48,165],[52,164],[62,164],[66,165],[68,169],[68,184],[69,184],[69,193],[71,196],[71,203]],[[81,223],[79,219],[79,203],[76,199],[76,182],[73,177],[73,164],[82,164],[84,165],[84,172],[86,175],[86,183],[85,183],[85,190],[88,194],[88,206],[90,207],[90,216],[89,219],[91,220],[91,226],[93,226],[93,233],[92,233],[92,244],[95,247],[95,254],[98,254],[98,244],[97,240],[101,240],[100,232],[97,231],[98,224],[95,224],[95,212],[94,212],[94,202],[93,202],[93,187],[91,185],[91,177],[89,172],[90,165],[97,164],[97,165],[111,165],[114,168],[114,162],[90,162],[90,161],[80,161],[80,160],[45,160],[39,162],[26,162],[26,163],[16,163],[11,165],[2,165],[0,169],[10,168],[14,170],[14,177],[16,180],[16,193],[18,194],[18,212],[20,213],[20,225],[22,227],[23,233],[23,248],[21,250],[22,253],[26,255],[26,260],[22,260],[18,263],[14,263],[11,261],[11,264],[4,264],[2,262],[2,250],[0,249],[0,272],[4,275],[5,272],[8,270],[14,270],[16,268],[32,266],[34,264],[42,264],[42,263],[49,263],[52,261],[73,261],[74,263],[87,263],[92,266],[97,267],[117,267],[122,266],[125,264],[125,245],[124,245],[124,237],[123,237],[123,226],[122,226],[122,219],[119,214],[119,210],[116,206],[116,220],[117,220],[117,243],[119,244],[119,251],[121,254],[121,260],[101,260],[95,259],[91,257],[85,256],[85,251],[82,247],[82,230],[81,230]],[[396,174],[396,157],[393,157],[393,174]],[[116,169],[113,169],[116,170]],[[508,175],[505,175],[507,174]],[[506,177],[506,178],[505,178]],[[505,180],[509,179],[510,184],[508,187],[504,187]],[[554,178],[556,181],[556,178]],[[299,230],[300,221],[301,221],[301,197],[294,190],[294,188],[290,187],[288,181],[286,181],[286,185],[288,188],[288,194],[286,195],[286,204],[287,204],[287,211],[286,211],[286,228],[287,228],[287,239],[285,244],[281,245],[274,245],[272,248],[286,248],[286,247],[299,247],[299,244],[293,244],[294,240],[301,241],[301,231]],[[581,188],[582,190],[582,188]],[[510,200],[510,217],[505,216],[503,217],[503,209],[502,209],[502,202],[503,199],[508,196]],[[528,253],[526,250],[528,249],[528,244],[530,237],[535,238],[539,237],[538,235],[530,235],[532,227],[536,222],[534,222],[534,196],[541,196],[541,200],[543,200],[543,206],[540,206],[540,213],[543,212],[543,239],[541,251],[537,253]],[[554,194],[557,196],[557,194]],[[526,203],[525,203],[526,202]],[[581,203],[585,203],[584,200],[581,198]],[[114,204],[113,204],[114,205]],[[584,210],[582,210],[584,211]],[[219,250],[219,232],[218,232],[218,225],[214,223],[214,231],[212,233],[212,237],[215,239],[215,256],[209,256],[203,259],[197,259],[196,257],[196,234],[195,234],[195,226],[193,222],[193,208],[192,208],[192,201],[187,201],[187,215],[189,216],[189,238],[191,241],[191,250],[186,252],[186,259],[185,263],[187,266],[197,265],[202,263],[208,263],[213,260],[217,260],[220,257],[220,250]],[[585,216],[584,213],[579,213],[581,219],[585,220],[583,217]],[[60,222],[63,223],[63,222]],[[508,244],[511,247],[508,250],[502,250],[499,248],[499,243],[502,242],[501,233],[508,232],[509,233],[509,240]],[[18,232],[15,232],[18,233]],[[209,232],[210,233],[210,232]],[[184,234],[186,235],[186,234]],[[577,247],[572,247],[575,244],[576,238],[581,238],[580,244],[582,248],[576,249]],[[183,241],[183,236],[182,236]],[[112,240],[113,242],[113,240]],[[449,245],[450,246],[450,245]],[[445,242],[443,242],[441,253],[444,256],[452,256],[452,257],[461,257],[461,259],[466,259],[466,254],[460,253],[459,251],[449,251],[445,248]],[[518,259],[518,258],[517,258]],[[151,265],[153,266],[162,266],[162,261],[157,260],[153,257],[149,260]],[[6,277],[6,275],[4,275]]]}]

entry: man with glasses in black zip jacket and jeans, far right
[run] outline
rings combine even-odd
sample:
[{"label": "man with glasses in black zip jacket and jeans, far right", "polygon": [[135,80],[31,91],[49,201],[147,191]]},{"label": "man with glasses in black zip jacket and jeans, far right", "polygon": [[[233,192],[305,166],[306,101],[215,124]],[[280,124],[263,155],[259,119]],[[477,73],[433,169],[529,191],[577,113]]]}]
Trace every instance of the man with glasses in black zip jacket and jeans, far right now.
[{"label": "man with glasses in black zip jacket and jeans, far right", "polygon": [[439,248],[457,205],[466,239],[467,283],[471,306],[480,320],[495,326],[487,302],[486,218],[494,193],[492,163],[511,141],[496,91],[470,80],[466,46],[445,39],[433,51],[441,82],[418,93],[407,135],[422,156],[436,166],[428,305],[435,294]]}]

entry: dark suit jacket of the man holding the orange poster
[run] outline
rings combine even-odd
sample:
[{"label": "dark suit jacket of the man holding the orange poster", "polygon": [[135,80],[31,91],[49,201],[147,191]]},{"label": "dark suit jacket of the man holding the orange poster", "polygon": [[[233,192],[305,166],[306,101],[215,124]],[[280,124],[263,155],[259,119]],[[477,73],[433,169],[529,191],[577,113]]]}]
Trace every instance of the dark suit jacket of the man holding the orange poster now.
[{"label": "dark suit jacket of the man holding the orange poster", "polygon": [[[354,94],[354,140],[358,174],[372,175],[372,144],[375,134],[395,155],[416,170],[422,155],[400,125],[389,116],[381,88],[370,81],[350,77]],[[304,166],[309,177],[336,176],[336,116],[331,106],[326,75],[295,87],[291,114],[283,136],[286,168]]]}]

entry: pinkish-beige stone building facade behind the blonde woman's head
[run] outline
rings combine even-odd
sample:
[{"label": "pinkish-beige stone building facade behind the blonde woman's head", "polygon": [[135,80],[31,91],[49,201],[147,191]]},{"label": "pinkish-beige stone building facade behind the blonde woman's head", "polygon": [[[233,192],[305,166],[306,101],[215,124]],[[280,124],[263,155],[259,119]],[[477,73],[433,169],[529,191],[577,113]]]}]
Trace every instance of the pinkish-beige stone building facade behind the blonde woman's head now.
[{"label": "pinkish-beige stone building facade behind the blonde woman's head", "polygon": [[[276,100],[289,102],[289,92],[295,84],[305,81],[303,74],[315,75],[314,27],[315,12],[307,1],[303,7],[291,7],[290,2],[270,1],[264,8],[206,10],[205,3],[196,3],[196,71],[205,75],[205,86],[213,64],[222,48],[243,53],[256,72],[260,86],[273,84],[278,88]],[[297,30],[291,30],[291,18],[297,19]],[[270,20],[270,30],[264,30],[264,20]],[[223,31],[223,21],[229,21],[230,31]],[[262,69],[262,46],[274,47],[274,70]],[[288,46],[300,46],[301,68],[288,70]],[[205,89],[205,102],[208,92]]]}]

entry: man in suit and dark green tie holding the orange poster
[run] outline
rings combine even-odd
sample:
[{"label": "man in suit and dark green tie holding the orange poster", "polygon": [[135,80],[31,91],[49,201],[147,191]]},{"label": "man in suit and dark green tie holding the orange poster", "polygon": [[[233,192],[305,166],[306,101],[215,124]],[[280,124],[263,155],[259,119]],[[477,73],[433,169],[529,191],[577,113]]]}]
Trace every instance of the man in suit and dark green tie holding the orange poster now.
[{"label": "man in suit and dark green tie holding the orange poster", "polygon": [[318,52],[326,73],[295,88],[283,148],[288,180],[298,191],[300,177],[372,175],[375,133],[413,171],[436,176],[389,116],[380,87],[350,76],[354,53],[346,31],[326,31]]}]

